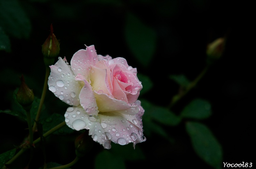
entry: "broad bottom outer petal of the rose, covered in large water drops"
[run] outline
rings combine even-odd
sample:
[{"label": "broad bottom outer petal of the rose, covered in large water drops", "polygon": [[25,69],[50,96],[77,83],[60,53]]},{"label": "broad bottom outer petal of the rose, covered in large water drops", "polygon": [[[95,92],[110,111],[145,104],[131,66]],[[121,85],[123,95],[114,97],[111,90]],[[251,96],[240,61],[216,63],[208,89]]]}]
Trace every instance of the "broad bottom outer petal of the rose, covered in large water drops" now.
[{"label": "broad bottom outer petal of the rose, covered in large water drops", "polygon": [[[141,107],[141,106],[140,106]],[[141,108],[141,111],[143,109]],[[110,149],[110,142],[125,145],[143,142],[141,113],[137,115],[118,115],[105,113],[104,115],[89,116],[81,106],[69,107],[65,113],[65,122],[74,130],[89,130],[92,139]]]}]

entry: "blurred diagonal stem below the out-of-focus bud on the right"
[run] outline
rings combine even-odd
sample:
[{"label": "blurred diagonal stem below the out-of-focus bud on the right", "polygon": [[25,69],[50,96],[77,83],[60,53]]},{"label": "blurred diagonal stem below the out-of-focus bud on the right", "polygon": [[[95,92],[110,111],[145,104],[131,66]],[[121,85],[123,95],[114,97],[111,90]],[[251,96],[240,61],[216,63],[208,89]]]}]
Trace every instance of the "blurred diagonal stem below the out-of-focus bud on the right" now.
[{"label": "blurred diagonal stem below the out-of-focus bud on the right", "polygon": [[192,88],[194,88],[197,85],[197,83],[204,77],[208,69],[209,69],[209,66],[206,66],[204,70],[196,77],[196,79],[188,85],[185,91],[181,92],[178,95],[173,96],[172,101],[168,107],[171,108],[174,104],[176,104],[176,102],[178,102],[183,96],[185,96]]}]

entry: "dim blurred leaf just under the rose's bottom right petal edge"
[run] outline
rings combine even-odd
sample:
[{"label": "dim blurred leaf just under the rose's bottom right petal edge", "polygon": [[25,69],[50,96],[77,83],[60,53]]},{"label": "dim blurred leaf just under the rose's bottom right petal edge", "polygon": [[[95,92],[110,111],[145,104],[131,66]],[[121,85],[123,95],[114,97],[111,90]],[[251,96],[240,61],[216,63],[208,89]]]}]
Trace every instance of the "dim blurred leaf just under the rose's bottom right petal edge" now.
[{"label": "dim blurred leaf just under the rose's bottom right petal edge", "polygon": [[132,144],[125,146],[119,144],[111,144],[110,151],[115,154],[115,156],[122,157],[123,160],[135,161],[143,160],[146,158],[137,144],[135,145],[135,149],[133,148]]}]

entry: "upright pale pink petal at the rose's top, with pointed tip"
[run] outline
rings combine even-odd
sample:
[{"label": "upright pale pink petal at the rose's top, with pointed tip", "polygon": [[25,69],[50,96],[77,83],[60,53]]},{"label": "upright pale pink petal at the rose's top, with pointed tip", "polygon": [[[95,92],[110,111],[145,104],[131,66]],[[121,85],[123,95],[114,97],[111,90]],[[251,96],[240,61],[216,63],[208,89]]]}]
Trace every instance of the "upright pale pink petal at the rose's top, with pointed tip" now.
[{"label": "upright pale pink petal at the rose's top, with pointed tip", "polygon": [[98,62],[98,55],[94,45],[86,47],[86,50],[77,51],[70,62],[71,68],[75,74],[82,74],[86,79],[90,77],[91,66]]}]

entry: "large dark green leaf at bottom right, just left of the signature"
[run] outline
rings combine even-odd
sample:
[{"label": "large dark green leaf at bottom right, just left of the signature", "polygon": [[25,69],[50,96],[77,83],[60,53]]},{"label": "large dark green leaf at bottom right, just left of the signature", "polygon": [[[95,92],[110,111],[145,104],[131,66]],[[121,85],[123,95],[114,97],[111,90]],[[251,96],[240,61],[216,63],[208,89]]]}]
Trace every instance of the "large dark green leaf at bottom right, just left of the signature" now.
[{"label": "large dark green leaf at bottom right, just left of the signature", "polygon": [[187,122],[186,130],[197,155],[216,169],[222,165],[222,149],[220,143],[207,126],[197,122]]}]

